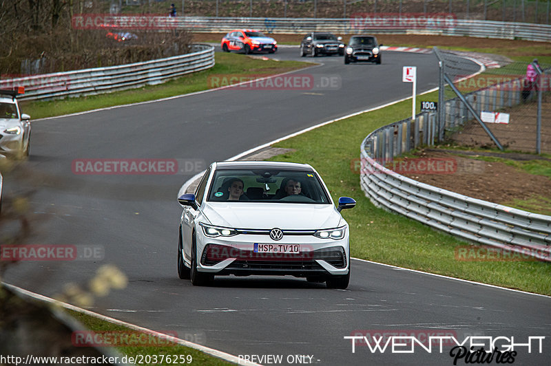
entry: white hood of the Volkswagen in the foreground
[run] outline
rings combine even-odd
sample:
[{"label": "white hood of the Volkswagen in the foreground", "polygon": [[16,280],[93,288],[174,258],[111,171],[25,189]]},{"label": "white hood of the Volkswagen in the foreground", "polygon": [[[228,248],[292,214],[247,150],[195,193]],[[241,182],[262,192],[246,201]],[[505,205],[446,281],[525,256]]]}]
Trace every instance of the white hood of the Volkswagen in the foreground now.
[{"label": "white hood of the Volkswagen in the foreground", "polygon": [[249,229],[317,230],[342,220],[332,204],[207,202],[203,213],[213,225]]}]

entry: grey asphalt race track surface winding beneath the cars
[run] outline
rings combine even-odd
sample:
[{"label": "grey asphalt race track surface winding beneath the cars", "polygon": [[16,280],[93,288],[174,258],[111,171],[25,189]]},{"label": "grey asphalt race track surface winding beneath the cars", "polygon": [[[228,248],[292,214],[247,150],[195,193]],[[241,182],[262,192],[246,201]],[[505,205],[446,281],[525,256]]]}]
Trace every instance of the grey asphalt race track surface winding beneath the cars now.
[{"label": "grey asphalt race track surface winding beneath the cars", "polygon": [[[274,58],[302,59],[298,47]],[[176,275],[180,186],[215,160],[225,160],[289,133],[411,95],[402,66],[417,66],[418,92],[437,86],[433,54],[386,52],[382,65],[345,66],[342,58],[295,74],[309,88],[239,87],[38,120],[28,166],[37,183],[32,218],[39,233],[25,244],[75,244],[105,251],[95,261],[29,261],[4,281],[46,296],[63,284],[85,283],[103,263],[129,277],[125,290],[91,310],[233,355],[281,355],[282,364],[453,365],[449,346],[432,353],[372,353],[344,336],[545,336],[543,353],[519,347],[514,365],[549,365],[551,299],[354,260],[347,290],[293,277],[221,277],[198,288]],[[475,72],[478,66],[472,63]],[[397,116],[396,120],[402,116]],[[312,143],[315,143],[313,141]],[[346,141],[343,141],[346,143]],[[359,151],[359,149],[358,149]],[[73,160],[163,158],[194,162],[178,175],[82,175]],[[343,162],[349,164],[349,162]],[[25,182],[5,182],[6,191]],[[344,213],[346,217],[346,213]],[[501,346],[506,341],[498,342]],[[404,347],[402,347],[404,349]],[[295,358],[295,355],[312,358]],[[289,357],[290,356],[290,357]],[[270,365],[273,358],[253,358]],[[291,361],[291,362],[288,362]],[[457,365],[464,365],[458,360]]]}]

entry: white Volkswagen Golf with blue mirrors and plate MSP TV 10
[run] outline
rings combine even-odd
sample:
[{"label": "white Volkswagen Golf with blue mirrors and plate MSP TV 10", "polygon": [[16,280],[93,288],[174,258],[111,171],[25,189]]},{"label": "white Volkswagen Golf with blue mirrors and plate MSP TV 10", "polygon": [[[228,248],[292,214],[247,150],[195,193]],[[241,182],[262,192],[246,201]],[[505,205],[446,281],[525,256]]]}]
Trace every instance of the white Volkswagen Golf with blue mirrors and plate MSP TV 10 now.
[{"label": "white Volkswagen Golf with blue mirrors and plate MSP TV 10", "polygon": [[178,276],[206,285],[221,275],[293,275],[346,288],[349,226],[310,165],[215,162],[183,206]]}]

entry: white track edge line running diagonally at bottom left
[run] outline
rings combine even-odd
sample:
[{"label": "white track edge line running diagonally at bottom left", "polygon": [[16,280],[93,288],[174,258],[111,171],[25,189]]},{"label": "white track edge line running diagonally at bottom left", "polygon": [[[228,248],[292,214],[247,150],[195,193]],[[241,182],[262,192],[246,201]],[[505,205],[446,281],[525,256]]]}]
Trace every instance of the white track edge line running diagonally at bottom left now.
[{"label": "white track edge line running diagonally at bottom left", "polygon": [[31,297],[32,299],[45,301],[45,302],[51,303],[53,305],[61,306],[62,308],[65,308],[65,309],[68,309],[68,310],[74,310],[75,312],[80,312],[82,314],[94,316],[94,318],[98,318],[98,319],[101,319],[103,321],[108,321],[110,323],[114,323],[114,324],[117,324],[117,325],[123,325],[124,327],[129,327],[130,329],[136,330],[138,332],[151,334],[152,336],[160,337],[163,340],[166,339],[169,342],[174,342],[174,343],[178,343],[179,345],[183,345],[185,347],[197,349],[198,351],[205,352],[206,354],[209,354],[211,356],[214,356],[214,357],[217,357],[217,358],[222,358],[222,360],[227,360],[229,362],[238,363],[239,365],[260,366],[257,363],[251,363],[251,362],[249,362],[247,360],[244,360],[242,358],[238,358],[237,356],[233,356],[232,354],[227,354],[226,352],[218,351],[217,349],[205,347],[204,345],[198,345],[197,343],[185,341],[183,339],[176,338],[176,337],[173,337],[173,336],[169,336],[167,334],[155,332],[154,330],[149,330],[147,328],[140,327],[138,325],[134,325],[134,324],[131,324],[131,323],[126,323],[125,321],[120,321],[118,319],[111,318],[110,316],[105,316],[105,315],[102,315],[102,314],[98,314],[96,312],[91,312],[90,310],[79,308],[79,307],[71,305],[69,303],[63,303],[61,301],[57,301],[57,300],[52,299],[50,297],[45,297],[41,294],[37,294],[37,293],[31,292],[31,291],[28,291],[28,290],[24,290],[23,288],[19,288],[19,287],[14,286],[14,285],[10,285],[10,283],[5,283],[4,282],[3,284],[4,284],[4,286],[9,288],[10,290],[12,290],[14,292],[19,292],[19,294],[23,294],[27,297]]}]

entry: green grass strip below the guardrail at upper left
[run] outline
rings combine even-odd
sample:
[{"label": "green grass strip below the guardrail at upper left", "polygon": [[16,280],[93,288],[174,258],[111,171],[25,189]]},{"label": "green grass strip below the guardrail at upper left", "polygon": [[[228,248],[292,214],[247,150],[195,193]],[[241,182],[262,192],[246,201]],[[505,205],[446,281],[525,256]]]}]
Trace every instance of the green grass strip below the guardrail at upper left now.
[{"label": "green grass strip below the guardrail at upper left", "polygon": [[[202,90],[211,89],[218,76],[255,76],[267,74],[280,74],[293,69],[300,69],[311,64],[298,61],[264,61],[260,58],[251,58],[242,54],[215,53],[216,65],[211,69],[188,74],[178,79],[171,80],[162,85],[148,85],[138,89],[130,89],[124,92],[101,94],[98,96],[85,96],[81,98],[66,98],[51,101],[23,101],[21,109],[29,114],[32,119],[52,116],[63,116],[92,109],[113,107],[130,103],[156,100],[170,96],[178,96]],[[223,86],[222,83],[219,83]]]}]

